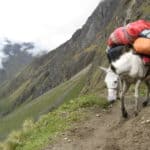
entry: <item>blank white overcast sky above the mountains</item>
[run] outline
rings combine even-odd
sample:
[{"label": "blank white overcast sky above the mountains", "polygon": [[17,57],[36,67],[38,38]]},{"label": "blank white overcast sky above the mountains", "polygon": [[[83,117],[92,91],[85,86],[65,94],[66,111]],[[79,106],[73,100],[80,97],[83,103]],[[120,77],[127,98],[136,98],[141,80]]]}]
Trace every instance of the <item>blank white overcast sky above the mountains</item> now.
[{"label": "blank white overcast sky above the mountains", "polygon": [[85,23],[100,0],[0,0],[0,38],[56,48]]}]

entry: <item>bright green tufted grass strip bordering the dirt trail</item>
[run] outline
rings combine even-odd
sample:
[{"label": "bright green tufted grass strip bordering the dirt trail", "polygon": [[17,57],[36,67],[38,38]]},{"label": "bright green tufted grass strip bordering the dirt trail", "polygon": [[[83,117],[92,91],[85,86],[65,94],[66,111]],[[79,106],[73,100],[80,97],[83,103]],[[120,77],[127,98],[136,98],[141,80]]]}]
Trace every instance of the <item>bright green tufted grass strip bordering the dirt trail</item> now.
[{"label": "bright green tufted grass strip bordering the dirt trail", "polygon": [[66,102],[53,112],[43,115],[34,123],[32,119],[24,122],[22,129],[13,131],[1,143],[5,150],[40,150],[49,142],[71,128],[73,122],[78,122],[87,117],[87,107],[107,107],[107,101],[96,95],[80,96]]}]

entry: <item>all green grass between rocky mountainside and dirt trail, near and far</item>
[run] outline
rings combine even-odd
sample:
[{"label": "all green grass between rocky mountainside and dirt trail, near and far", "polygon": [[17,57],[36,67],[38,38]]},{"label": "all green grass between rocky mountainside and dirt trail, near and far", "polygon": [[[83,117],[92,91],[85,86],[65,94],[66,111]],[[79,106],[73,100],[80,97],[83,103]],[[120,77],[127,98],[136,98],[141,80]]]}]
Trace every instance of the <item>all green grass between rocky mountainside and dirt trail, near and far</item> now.
[{"label": "all green grass between rocky mountainside and dirt trail, near and far", "polygon": [[[79,96],[85,85],[87,71],[88,68],[84,69],[69,81],[34,101],[26,102],[3,118],[0,121],[0,133],[4,136],[1,138],[9,136],[0,144],[0,149],[41,149],[49,139],[53,141],[55,136],[70,128],[73,122],[83,120],[87,116],[84,108],[95,105],[106,107],[107,101],[104,98],[96,95]],[[49,112],[64,101],[65,104]],[[35,119],[38,121],[34,122]],[[14,131],[10,133],[12,130]]]}]

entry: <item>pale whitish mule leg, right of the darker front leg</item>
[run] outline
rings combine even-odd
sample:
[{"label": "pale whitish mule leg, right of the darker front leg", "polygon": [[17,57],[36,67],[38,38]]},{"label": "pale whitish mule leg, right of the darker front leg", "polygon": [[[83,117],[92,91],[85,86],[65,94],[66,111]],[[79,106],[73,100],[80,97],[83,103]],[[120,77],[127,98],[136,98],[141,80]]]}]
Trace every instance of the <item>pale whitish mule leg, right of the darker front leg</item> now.
[{"label": "pale whitish mule leg, right of the darker front leg", "polygon": [[138,115],[139,112],[139,87],[141,84],[141,80],[138,80],[135,85],[135,115]]}]

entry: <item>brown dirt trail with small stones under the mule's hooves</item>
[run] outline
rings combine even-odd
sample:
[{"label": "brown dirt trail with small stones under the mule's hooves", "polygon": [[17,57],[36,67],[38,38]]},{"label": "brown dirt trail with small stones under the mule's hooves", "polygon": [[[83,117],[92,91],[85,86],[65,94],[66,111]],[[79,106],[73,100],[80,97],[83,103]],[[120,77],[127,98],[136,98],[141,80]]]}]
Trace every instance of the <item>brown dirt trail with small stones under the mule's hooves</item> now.
[{"label": "brown dirt trail with small stones under the mule's hooves", "polygon": [[150,108],[137,117],[128,104],[129,119],[122,119],[120,102],[108,110],[92,110],[88,120],[78,123],[45,150],[150,150]]}]

